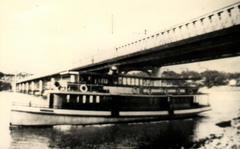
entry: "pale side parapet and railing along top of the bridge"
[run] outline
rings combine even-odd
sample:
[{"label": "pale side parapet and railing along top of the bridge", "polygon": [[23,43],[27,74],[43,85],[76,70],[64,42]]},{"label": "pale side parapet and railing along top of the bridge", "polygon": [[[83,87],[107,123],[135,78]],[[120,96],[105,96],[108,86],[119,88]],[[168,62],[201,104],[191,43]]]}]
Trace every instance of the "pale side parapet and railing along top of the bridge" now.
[{"label": "pale side parapet and railing along top of the bridge", "polygon": [[192,19],[188,22],[175,25],[151,36],[116,47],[115,49],[103,51],[92,57],[90,63],[96,63],[133,52],[167,45],[238,24],[240,24],[240,2]]}]

